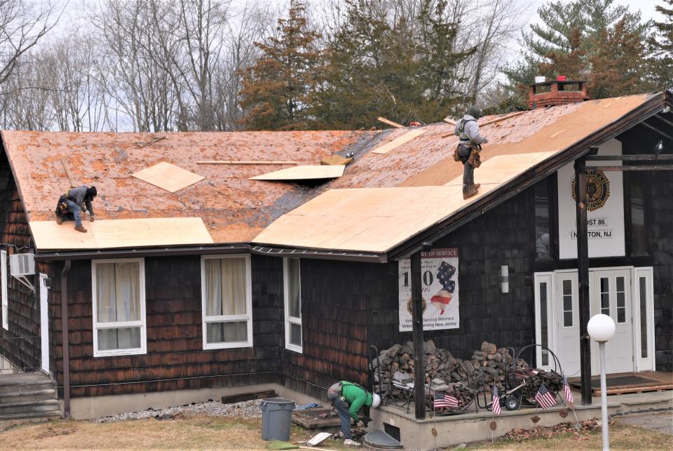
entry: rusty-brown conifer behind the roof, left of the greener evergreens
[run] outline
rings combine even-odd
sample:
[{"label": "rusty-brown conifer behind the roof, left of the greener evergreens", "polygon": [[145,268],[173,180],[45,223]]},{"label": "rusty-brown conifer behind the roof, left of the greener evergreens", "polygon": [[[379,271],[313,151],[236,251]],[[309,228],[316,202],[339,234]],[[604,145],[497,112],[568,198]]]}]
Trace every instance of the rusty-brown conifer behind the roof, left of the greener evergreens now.
[{"label": "rusty-brown conifer behind the roof, left of the greener evergreens", "polygon": [[306,6],[290,1],[287,19],[278,20],[278,37],[255,43],[261,55],[243,76],[241,123],[247,130],[294,130],[311,121],[310,97],[321,83],[320,34],[308,29]]}]

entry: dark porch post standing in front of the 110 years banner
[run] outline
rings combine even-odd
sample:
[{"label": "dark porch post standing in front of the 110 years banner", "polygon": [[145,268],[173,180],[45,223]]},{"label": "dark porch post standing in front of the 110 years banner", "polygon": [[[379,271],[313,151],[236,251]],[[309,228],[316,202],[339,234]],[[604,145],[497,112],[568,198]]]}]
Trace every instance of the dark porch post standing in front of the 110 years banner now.
[{"label": "dark porch post standing in front of the 110 years banner", "polygon": [[423,290],[421,251],[412,255],[412,340],[414,341],[414,399],[416,419],[426,418],[426,364],[423,361]]}]

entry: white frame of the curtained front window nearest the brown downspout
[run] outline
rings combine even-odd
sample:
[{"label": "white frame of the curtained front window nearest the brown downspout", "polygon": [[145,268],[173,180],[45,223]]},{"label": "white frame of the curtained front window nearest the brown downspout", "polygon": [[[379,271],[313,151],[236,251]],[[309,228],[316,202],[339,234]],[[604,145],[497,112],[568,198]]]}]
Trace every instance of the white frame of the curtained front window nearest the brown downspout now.
[{"label": "white frame of the curtained front window nearest the brown downspout", "polygon": [[[139,263],[140,271],[140,321],[116,321],[114,323],[98,323],[97,319],[97,274],[96,265],[105,263]],[[147,354],[147,318],[145,316],[145,259],[144,258],[122,258],[114,260],[91,260],[91,292],[93,307],[93,356],[135,356],[138,354]],[[140,348],[126,349],[106,349],[98,350],[98,330],[100,329],[121,329],[129,327],[140,327]]]}]

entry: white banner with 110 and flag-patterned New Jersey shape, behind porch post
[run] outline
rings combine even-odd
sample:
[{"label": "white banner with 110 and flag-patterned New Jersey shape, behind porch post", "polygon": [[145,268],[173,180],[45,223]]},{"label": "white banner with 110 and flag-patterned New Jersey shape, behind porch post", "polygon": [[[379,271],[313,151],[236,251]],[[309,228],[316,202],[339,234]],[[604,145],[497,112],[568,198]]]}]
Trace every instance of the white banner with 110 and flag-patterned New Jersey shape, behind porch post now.
[{"label": "white banner with 110 and flag-patterned New Jersey shape, behind porch post", "polygon": [[[412,331],[411,267],[411,260],[400,261],[400,332]],[[459,328],[458,249],[421,252],[421,287],[423,330]]]}]

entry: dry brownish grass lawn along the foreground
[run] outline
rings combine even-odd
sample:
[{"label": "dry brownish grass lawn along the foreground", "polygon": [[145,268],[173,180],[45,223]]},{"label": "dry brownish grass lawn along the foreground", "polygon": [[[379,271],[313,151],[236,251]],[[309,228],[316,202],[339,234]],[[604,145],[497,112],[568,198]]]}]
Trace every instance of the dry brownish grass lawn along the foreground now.
[{"label": "dry brownish grass lawn along the foreground", "polygon": [[[123,422],[95,423],[58,420],[55,422],[15,426],[0,433],[1,450],[44,449],[219,449],[266,450],[261,440],[261,420],[238,417],[184,416],[175,419],[140,419]],[[670,450],[672,437],[637,426],[613,424],[610,445],[614,450]],[[290,441],[311,438],[311,433],[292,426]],[[320,447],[330,450],[353,449],[343,442],[327,439]],[[514,438],[496,443],[475,444],[470,449],[497,450],[599,450],[600,430],[580,433],[539,429],[521,432]],[[362,449],[362,448],[360,448]]]}]

